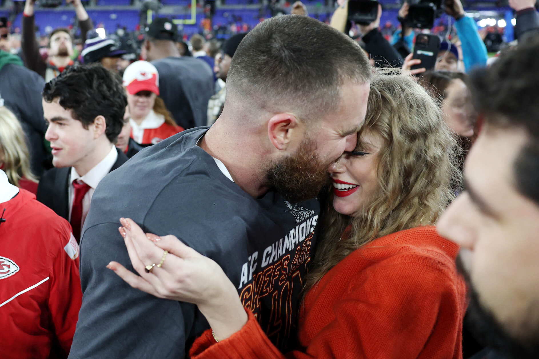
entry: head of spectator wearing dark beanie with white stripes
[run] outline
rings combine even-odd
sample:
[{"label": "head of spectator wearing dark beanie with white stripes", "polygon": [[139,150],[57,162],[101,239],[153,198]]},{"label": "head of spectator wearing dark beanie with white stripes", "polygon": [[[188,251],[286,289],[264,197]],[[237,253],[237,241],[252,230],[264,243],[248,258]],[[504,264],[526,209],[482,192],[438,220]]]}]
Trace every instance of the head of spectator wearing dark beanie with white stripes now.
[{"label": "head of spectator wearing dark beanie with white stripes", "polygon": [[99,62],[103,67],[114,73],[120,72],[121,62],[119,61],[122,55],[125,54],[126,51],[120,48],[119,43],[107,37],[87,39],[81,53],[84,64]]}]

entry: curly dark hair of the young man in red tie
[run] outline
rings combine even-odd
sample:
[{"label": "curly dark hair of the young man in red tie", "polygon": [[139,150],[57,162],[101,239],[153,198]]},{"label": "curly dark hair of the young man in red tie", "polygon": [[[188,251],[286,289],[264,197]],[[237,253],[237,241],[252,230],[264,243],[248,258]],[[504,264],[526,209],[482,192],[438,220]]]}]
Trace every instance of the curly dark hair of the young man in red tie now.
[{"label": "curly dark hair of the young man in red tie", "polygon": [[71,110],[74,119],[87,129],[98,116],[105,117],[105,135],[111,143],[118,139],[123,126],[127,97],[118,76],[100,64],[68,67],[45,84],[43,99]]}]

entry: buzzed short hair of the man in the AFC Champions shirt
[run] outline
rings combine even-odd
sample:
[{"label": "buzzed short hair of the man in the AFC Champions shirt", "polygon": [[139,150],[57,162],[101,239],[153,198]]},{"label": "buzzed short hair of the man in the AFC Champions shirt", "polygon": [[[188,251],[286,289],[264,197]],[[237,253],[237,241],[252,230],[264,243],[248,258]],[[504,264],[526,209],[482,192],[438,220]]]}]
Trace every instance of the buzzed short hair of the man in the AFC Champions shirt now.
[{"label": "buzzed short hair of the man in the AFC Champions shirt", "polygon": [[226,92],[309,121],[336,109],[345,81],[370,78],[369,60],[354,40],[319,20],[287,15],[265,20],[241,41]]}]

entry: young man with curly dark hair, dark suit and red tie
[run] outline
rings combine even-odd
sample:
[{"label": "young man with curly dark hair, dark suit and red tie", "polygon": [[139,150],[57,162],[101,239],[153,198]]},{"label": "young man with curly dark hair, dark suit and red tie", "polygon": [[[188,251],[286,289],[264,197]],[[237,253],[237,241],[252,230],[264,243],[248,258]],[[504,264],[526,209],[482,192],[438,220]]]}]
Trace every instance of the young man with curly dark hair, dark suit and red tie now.
[{"label": "young man with curly dark hair, dark suit and red tie", "polygon": [[43,90],[55,168],[40,180],[37,199],[70,221],[77,241],[95,187],[127,161],[114,146],[126,105],[120,79],[101,65],[70,67]]}]

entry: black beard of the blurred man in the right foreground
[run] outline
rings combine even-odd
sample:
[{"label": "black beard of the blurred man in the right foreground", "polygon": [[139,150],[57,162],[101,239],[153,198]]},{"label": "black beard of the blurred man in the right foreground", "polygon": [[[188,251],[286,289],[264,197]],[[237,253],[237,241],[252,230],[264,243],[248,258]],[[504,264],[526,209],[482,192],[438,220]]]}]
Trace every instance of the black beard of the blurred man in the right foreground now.
[{"label": "black beard of the blurred man in the right foreground", "polygon": [[[479,301],[469,274],[464,269],[460,255],[457,257],[457,270],[464,276],[468,286],[467,323],[476,339],[509,358],[539,358],[539,333],[528,333],[526,339],[515,339],[494,318],[492,312]],[[511,305],[507,303],[507,305]]]}]

